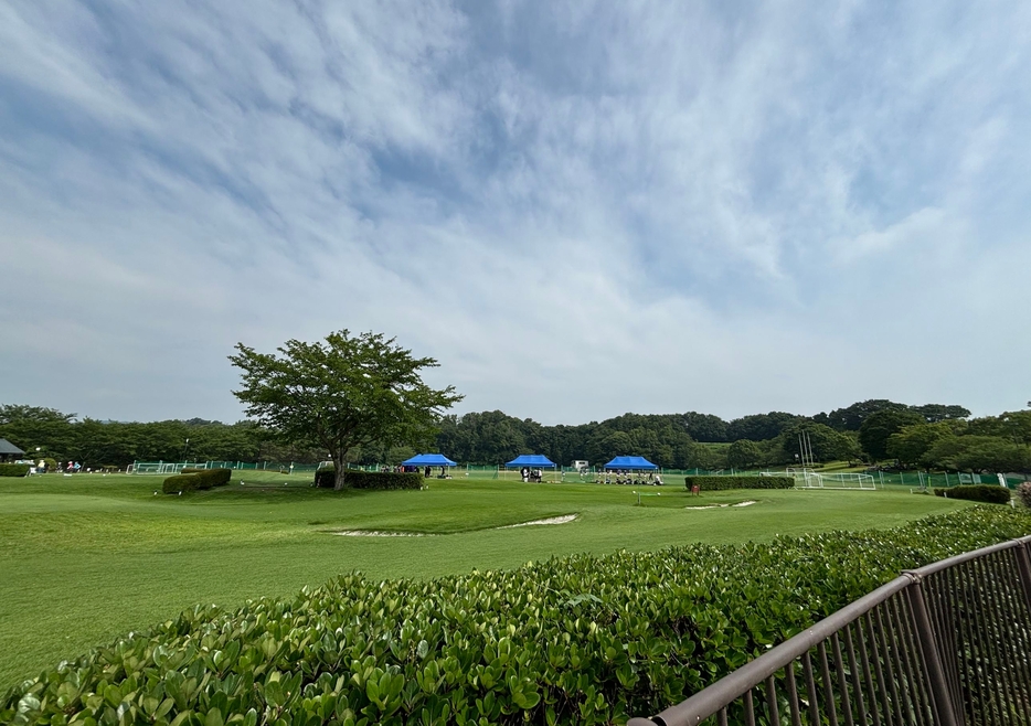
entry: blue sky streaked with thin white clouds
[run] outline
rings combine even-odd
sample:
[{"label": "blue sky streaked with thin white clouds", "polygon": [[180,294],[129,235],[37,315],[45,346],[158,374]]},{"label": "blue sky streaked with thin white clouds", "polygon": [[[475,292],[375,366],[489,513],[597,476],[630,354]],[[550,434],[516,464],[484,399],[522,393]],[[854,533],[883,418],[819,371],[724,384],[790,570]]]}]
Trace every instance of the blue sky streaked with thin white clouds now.
[{"label": "blue sky streaked with thin white clouds", "polygon": [[0,403],[242,417],[237,342],[457,413],[1031,398],[1031,3],[0,3]]}]

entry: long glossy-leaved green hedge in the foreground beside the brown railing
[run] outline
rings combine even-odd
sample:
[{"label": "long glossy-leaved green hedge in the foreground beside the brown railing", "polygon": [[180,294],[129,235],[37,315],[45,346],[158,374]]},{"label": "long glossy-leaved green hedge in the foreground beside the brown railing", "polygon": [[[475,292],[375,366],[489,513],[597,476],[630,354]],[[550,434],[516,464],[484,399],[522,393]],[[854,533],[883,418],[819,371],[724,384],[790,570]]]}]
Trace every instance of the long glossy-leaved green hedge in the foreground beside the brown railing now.
[{"label": "long glossy-leaved green hedge in the foreground beside the brown railing", "polygon": [[198,607],[22,683],[0,723],[612,724],[656,713],[917,567],[1031,532],[975,506],[889,531],[339,577]]}]

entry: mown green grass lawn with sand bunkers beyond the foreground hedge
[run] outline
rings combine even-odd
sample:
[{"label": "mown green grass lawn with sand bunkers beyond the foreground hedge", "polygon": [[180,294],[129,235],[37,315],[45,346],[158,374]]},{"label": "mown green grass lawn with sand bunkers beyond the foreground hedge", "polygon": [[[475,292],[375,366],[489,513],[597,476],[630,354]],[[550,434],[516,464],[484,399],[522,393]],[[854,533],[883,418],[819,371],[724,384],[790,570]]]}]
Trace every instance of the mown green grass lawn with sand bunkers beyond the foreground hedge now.
[{"label": "mown green grass lawn with sand bunkers beyond the foreground hedge", "polygon": [[[427,578],[581,552],[891,527],[966,505],[904,491],[692,498],[668,485],[637,506],[628,487],[460,478],[425,491],[337,493],[309,488],[310,478],[241,472],[226,488],[183,497],[155,495],[160,477],[0,479],[0,688],[194,604],[234,607],[351,570]],[[744,500],[756,504],[684,509]],[[577,519],[496,529],[563,514]],[[348,529],[432,536],[332,534]]]}]

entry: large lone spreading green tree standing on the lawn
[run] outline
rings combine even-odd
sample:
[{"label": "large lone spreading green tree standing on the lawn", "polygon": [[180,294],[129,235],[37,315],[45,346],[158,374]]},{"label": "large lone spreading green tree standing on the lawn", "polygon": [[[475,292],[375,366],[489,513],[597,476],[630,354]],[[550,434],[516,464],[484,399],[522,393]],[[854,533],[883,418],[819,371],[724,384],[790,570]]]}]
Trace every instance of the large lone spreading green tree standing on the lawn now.
[{"label": "large lone spreading green tree standing on the lawn", "polygon": [[443,413],[461,401],[454,386],[435,389],[422,372],[432,357],[382,333],[330,333],[323,342],[289,340],[275,353],[236,344],[230,361],[241,370],[233,394],[246,413],[283,439],[325,448],[337,470],[334,488],[347,485],[349,455],[361,446],[419,444]]}]

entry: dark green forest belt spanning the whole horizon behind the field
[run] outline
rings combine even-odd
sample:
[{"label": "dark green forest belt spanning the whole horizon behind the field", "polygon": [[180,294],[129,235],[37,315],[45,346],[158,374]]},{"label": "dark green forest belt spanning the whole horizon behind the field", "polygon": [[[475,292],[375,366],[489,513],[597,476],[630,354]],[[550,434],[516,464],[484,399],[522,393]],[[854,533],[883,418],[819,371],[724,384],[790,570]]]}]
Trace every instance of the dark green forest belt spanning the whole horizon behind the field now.
[{"label": "dark green forest belt spanning the whole horizon behind the field", "polygon": [[[544,426],[500,410],[480,412],[445,416],[436,441],[419,448],[436,449],[461,463],[487,466],[533,452],[563,466],[577,459],[600,463],[615,456],[639,455],[671,469],[747,469],[794,463],[803,433],[817,461],[1031,471],[1031,410],[970,418],[961,406],[908,406],[885,399],[816,416],[770,412],[730,421],[688,412]],[[94,467],[121,468],[134,460],[315,462],[325,458],[318,449],[281,441],[249,421],[102,421],[19,405],[0,405],[0,437],[30,456]],[[373,446],[351,456],[359,463],[394,463],[414,452],[410,447]]]}]

